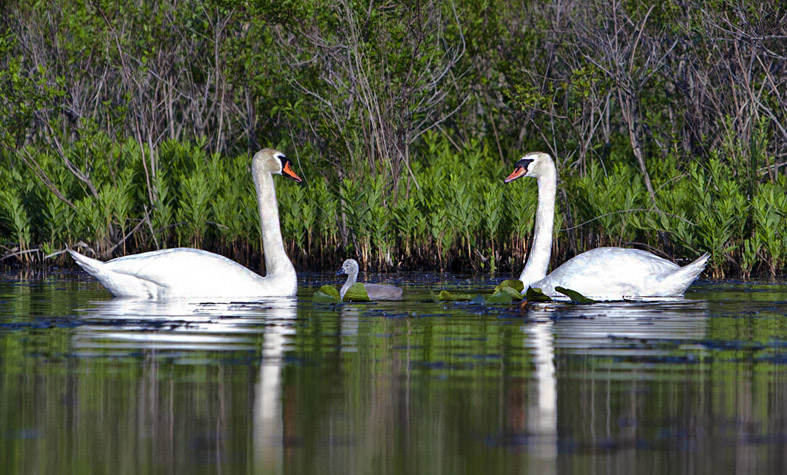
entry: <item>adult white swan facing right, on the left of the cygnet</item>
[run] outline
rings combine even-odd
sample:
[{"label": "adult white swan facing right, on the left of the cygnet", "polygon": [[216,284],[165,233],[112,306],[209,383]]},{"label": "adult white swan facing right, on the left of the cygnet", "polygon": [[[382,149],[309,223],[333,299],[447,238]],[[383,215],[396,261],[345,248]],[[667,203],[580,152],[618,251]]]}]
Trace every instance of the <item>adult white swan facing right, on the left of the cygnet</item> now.
[{"label": "adult white swan facing right, on the left of the cygnet", "polygon": [[77,264],[115,297],[167,300],[294,296],[298,288],[295,268],[284,252],[272,175],[284,175],[297,182],[301,178],[283,153],[269,148],[254,155],[251,170],[262,224],[265,277],[224,256],[200,249],[165,249],[107,262],[69,252]]}]

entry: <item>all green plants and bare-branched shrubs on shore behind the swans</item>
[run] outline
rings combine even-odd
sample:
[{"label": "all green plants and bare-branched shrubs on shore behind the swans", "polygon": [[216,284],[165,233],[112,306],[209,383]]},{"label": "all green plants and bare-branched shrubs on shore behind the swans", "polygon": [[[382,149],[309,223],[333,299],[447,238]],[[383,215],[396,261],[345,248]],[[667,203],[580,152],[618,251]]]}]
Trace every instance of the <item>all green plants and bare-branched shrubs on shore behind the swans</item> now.
[{"label": "all green plants and bare-branched shrubs on shore behind the swans", "polygon": [[4,4],[2,262],[196,246],[256,268],[249,156],[275,146],[306,179],[277,187],[300,269],[518,271],[535,183],[502,179],[544,150],[555,263],[616,245],[783,273],[783,6],[410,3]]}]

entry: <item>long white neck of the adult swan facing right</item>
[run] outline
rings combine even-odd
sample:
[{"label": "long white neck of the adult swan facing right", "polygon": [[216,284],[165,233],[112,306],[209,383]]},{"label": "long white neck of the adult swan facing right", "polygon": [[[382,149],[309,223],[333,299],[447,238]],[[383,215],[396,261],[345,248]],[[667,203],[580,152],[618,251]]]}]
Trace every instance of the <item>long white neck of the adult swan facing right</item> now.
[{"label": "long white neck of the adult swan facing right", "polygon": [[279,204],[276,201],[276,188],[273,176],[259,169],[253,170],[254,187],[257,189],[257,204],[260,210],[260,230],[262,252],[265,256],[267,277],[295,273],[292,262],[284,251],[279,224]]}]

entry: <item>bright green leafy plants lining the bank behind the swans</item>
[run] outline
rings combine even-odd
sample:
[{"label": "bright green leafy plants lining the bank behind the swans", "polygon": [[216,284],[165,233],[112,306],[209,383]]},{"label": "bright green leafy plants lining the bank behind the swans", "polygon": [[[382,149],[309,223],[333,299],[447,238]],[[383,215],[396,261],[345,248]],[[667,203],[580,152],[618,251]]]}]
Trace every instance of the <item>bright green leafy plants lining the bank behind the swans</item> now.
[{"label": "bright green leafy plants lining the bank behind the swans", "polygon": [[[517,156],[501,163],[482,144],[458,150],[429,134],[414,161],[414,179],[393,189],[383,175],[372,173],[329,181],[309,156],[288,152],[306,182],[278,180],[277,194],[287,250],[300,269],[333,268],[348,256],[381,270],[510,272],[522,265],[532,237],[536,185],[528,179],[502,183]],[[159,170],[150,176],[135,142],[92,140],[68,151],[72,163],[94,165],[80,179],[56,154],[24,153],[28,160],[35,156],[36,173],[24,158],[6,156],[2,167],[10,172],[0,175],[6,264],[66,264],[67,255],[58,252],[67,246],[101,258],[194,246],[259,267],[248,156],[167,142]],[[651,165],[657,207],[634,164],[611,157],[609,164],[591,163],[584,174],[561,168],[553,265],[613,245],[678,261],[707,251],[715,277],[783,272],[783,176],[763,179],[758,169],[744,173],[715,154],[702,165],[687,157]]]}]

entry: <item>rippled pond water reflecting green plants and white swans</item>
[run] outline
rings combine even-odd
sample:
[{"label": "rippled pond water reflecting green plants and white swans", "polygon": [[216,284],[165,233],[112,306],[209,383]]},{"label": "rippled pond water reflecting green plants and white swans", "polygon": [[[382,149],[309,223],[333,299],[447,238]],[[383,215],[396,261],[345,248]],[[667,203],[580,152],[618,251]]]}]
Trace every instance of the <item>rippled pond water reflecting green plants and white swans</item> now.
[{"label": "rippled pond water reflecting green plants and white swans", "polygon": [[783,473],[787,285],[521,308],[400,277],[396,303],[313,304],[309,276],[198,305],[5,274],[0,471]]}]

